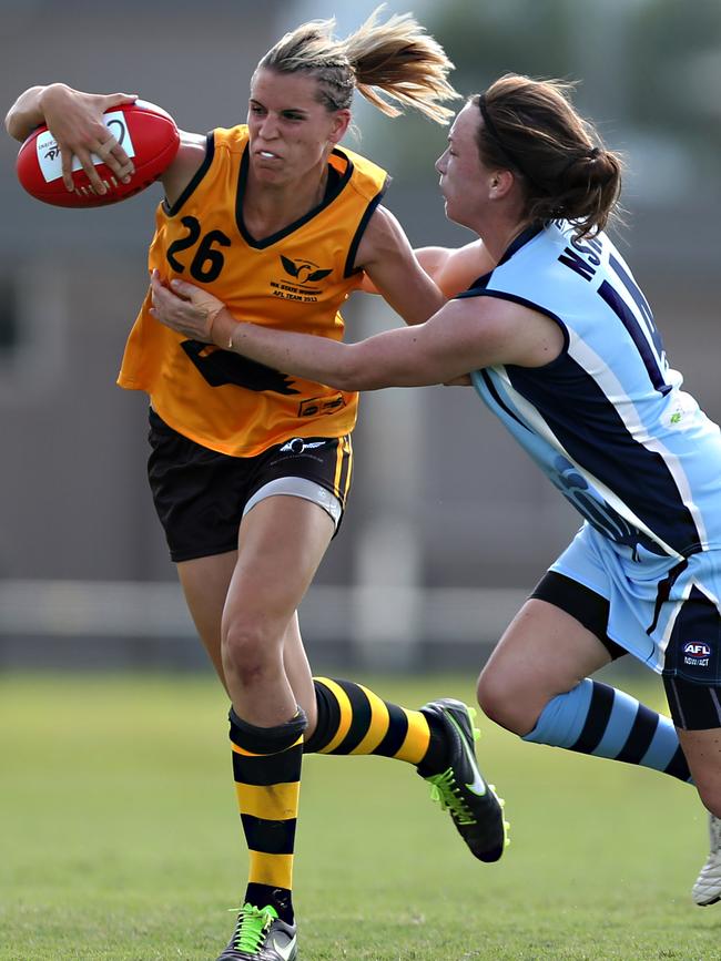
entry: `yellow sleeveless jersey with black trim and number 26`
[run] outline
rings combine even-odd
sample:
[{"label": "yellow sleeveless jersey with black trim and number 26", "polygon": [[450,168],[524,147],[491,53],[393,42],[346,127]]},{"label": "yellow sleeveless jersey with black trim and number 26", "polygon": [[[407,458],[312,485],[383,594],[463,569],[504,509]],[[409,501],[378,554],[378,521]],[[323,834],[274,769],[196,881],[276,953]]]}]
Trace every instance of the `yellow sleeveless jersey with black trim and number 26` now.
[{"label": "yellow sleeveless jersey with black trim and number 26", "polygon": [[[363,272],[354,259],[387,175],[345,149],[333,151],[323,203],[285,229],[254,239],[243,223],[248,135],[212,131],[205,160],[177,202],[162,203],[149,267],[223,300],[236,317],[283,330],[343,338],[339,307]],[[189,340],[148,313],[145,297],[118,378],[145,390],[174,430],[233,457],[253,457],[291,437],[341,437],[358,396],[286,376],[227,350]]]}]

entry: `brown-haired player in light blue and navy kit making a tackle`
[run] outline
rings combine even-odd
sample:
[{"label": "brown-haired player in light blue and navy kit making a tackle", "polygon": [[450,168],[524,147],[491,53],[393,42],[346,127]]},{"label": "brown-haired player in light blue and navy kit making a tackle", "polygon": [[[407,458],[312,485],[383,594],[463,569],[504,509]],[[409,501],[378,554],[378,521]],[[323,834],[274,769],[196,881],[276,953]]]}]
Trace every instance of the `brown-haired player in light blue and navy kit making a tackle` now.
[{"label": "brown-haired player in light blue and navy kit making a tackle", "polygon": [[[583,524],[478,681],[526,740],[692,781],[711,815],[699,904],[721,896],[721,433],[681,389],[651,309],[606,234],[621,162],[565,84],[507,75],[471,98],[437,163],[447,216],[483,241],[480,276],[423,325],[344,345],[237,323],[180,283],[159,319],[343,390],[448,382],[479,396]],[[460,255],[436,253],[434,273]],[[672,722],[590,679],[631,653]]]}]

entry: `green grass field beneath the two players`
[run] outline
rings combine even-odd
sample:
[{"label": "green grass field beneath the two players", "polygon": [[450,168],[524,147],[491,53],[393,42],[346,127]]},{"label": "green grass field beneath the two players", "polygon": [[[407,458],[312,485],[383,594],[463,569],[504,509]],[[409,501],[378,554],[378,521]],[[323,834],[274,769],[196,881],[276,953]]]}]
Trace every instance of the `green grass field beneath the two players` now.
[{"label": "green grass field beneath the two players", "polygon": [[[473,696],[363,679],[414,706]],[[245,880],[225,707],[205,676],[0,676],[1,961],[214,961]],[[483,726],[512,824],[498,865],[408,766],[306,758],[302,961],[721,959],[721,906],[689,896],[707,852],[691,788]]]}]

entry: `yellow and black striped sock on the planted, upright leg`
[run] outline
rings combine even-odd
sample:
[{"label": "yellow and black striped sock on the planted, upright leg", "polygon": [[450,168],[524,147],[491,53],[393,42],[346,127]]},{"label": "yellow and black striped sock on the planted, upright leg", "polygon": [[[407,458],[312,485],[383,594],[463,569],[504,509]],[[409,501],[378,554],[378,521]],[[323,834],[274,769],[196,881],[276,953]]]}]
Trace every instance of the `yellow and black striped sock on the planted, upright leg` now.
[{"label": "yellow and black striped sock on the planted, upright leg", "polygon": [[277,727],[256,727],[230,713],[233,777],[248,848],[245,903],[272,904],[293,923],[293,851],[298,815],[305,713]]}]

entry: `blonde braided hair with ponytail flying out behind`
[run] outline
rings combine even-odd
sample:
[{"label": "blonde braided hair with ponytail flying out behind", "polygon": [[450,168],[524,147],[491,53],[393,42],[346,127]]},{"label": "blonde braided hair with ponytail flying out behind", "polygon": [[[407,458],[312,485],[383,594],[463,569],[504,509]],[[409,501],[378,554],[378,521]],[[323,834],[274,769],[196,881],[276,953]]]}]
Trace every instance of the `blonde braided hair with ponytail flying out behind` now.
[{"label": "blonde braided hair with ponytail flying out behind", "polygon": [[256,70],[312,74],[328,111],[349,108],[357,89],[386,116],[413,108],[447,124],[454,111],[443,103],[459,95],[448,82],[454,64],[413,14],[397,13],[378,23],[382,10],[374,10],[345,40],[334,37],[334,19],[303,23],[271,48]]}]

